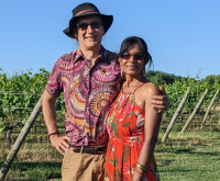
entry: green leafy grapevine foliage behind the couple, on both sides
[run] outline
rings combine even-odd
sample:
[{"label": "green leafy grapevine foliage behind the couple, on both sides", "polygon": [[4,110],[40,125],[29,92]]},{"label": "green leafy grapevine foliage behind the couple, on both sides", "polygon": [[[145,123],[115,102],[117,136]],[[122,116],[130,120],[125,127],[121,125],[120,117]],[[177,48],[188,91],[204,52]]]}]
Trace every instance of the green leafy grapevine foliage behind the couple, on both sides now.
[{"label": "green leafy grapevine foliage behind the couple, on both sides", "polygon": [[[152,77],[152,81],[165,89],[170,101],[169,109],[164,113],[167,117],[173,116],[188,88],[190,88],[190,93],[182,112],[189,112],[190,109],[195,108],[204,91],[209,89],[209,93],[202,103],[207,108],[217,89],[220,89],[220,76],[208,76],[206,80],[198,80],[198,76],[196,78],[177,77],[175,79],[174,75],[168,76],[166,73],[164,79],[166,81],[163,81],[161,80],[163,79],[163,73],[158,72],[157,75],[157,78],[156,75]],[[50,72],[44,68],[36,73],[28,70],[26,72],[14,72],[11,76],[0,69],[0,134],[9,127],[10,121],[20,121],[21,123],[16,126],[23,126],[43,93],[48,76]],[[160,82],[163,82],[163,84],[160,84]],[[220,94],[217,100],[219,100],[219,97]],[[56,100],[56,109],[57,113],[64,116],[63,94]]]}]

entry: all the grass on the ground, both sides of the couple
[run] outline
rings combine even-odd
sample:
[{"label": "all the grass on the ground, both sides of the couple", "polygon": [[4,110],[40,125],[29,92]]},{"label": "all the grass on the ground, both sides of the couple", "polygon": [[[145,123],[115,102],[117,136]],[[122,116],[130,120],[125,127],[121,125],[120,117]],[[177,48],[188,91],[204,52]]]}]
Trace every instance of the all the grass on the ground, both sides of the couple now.
[{"label": "all the grass on the ground, both sides of the couple", "polygon": [[[161,129],[155,158],[162,181],[220,181],[220,132],[170,132],[162,143]],[[170,146],[172,144],[172,146]],[[9,149],[0,147],[0,167]],[[62,156],[50,143],[25,143],[7,174],[7,180],[61,180]]]}]

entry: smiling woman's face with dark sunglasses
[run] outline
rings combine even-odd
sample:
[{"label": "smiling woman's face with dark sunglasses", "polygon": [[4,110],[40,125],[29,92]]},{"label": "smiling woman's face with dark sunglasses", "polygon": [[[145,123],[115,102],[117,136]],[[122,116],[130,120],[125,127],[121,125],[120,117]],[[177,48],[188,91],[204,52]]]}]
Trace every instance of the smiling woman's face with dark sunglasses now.
[{"label": "smiling woman's face with dark sunglasses", "polygon": [[129,46],[127,53],[119,57],[119,63],[125,76],[134,77],[140,76],[146,65],[138,43]]}]

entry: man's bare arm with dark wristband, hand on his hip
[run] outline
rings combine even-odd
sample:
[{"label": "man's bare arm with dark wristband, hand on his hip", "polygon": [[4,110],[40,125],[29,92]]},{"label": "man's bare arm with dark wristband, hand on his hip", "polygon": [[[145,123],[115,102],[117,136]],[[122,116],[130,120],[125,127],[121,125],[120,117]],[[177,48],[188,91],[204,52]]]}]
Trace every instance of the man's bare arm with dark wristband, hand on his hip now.
[{"label": "man's bare arm with dark wristband, hand on his hip", "polygon": [[50,140],[52,145],[62,154],[67,151],[69,145],[66,140],[70,138],[68,136],[59,136],[58,128],[56,124],[56,108],[55,108],[56,98],[53,98],[45,90],[42,98],[42,111],[44,115],[44,121],[47,127]]}]

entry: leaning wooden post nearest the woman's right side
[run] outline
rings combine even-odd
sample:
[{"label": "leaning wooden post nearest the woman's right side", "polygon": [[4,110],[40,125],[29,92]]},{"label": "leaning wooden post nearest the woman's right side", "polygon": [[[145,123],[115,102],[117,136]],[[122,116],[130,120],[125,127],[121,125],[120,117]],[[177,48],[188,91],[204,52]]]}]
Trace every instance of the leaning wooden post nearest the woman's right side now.
[{"label": "leaning wooden post nearest the woman's right side", "polygon": [[168,137],[168,134],[169,134],[169,132],[170,132],[170,129],[172,129],[172,127],[173,127],[173,125],[174,125],[174,123],[175,123],[175,121],[176,121],[176,117],[178,116],[179,111],[180,111],[182,108],[184,106],[184,103],[185,103],[185,101],[186,101],[186,99],[187,99],[189,92],[190,92],[190,88],[187,89],[187,91],[186,91],[184,98],[182,99],[182,102],[179,103],[179,105],[178,105],[176,112],[174,113],[174,115],[173,115],[173,117],[172,117],[172,121],[169,122],[169,125],[168,125],[168,127],[167,127],[167,129],[166,129],[166,133],[164,134],[164,136],[163,136],[163,138],[162,138],[162,142],[163,142],[163,143],[166,142],[166,138]]}]

